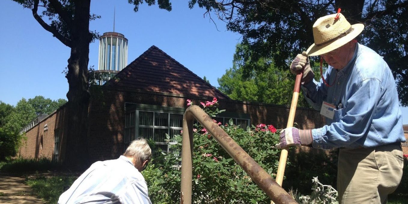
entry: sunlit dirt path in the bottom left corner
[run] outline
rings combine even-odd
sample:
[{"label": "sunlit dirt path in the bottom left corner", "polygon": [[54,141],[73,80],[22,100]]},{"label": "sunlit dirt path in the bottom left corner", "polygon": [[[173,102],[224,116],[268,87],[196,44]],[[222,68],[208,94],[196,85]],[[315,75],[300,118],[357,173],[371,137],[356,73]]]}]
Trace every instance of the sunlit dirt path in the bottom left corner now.
[{"label": "sunlit dirt path in the bottom left corner", "polygon": [[33,196],[33,191],[24,183],[24,178],[0,174],[1,204],[44,204]]}]

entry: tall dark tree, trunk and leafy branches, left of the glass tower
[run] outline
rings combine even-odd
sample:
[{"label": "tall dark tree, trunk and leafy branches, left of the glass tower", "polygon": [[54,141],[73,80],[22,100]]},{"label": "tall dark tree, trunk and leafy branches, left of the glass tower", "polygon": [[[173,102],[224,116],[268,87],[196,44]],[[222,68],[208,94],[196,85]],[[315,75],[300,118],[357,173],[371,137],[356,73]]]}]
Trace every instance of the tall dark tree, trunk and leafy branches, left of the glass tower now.
[{"label": "tall dark tree, trunk and leafy branches, left of the glass tower", "polygon": [[[72,169],[81,169],[89,164],[87,133],[89,107],[89,44],[98,38],[96,31],[89,30],[89,21],[100,18],[90,13],[91,0],[13,0],[24,8],[30,9],[33,18],[45,30],[53,34],[64,45],[71,48],[68,59],[67,78],[69,89],[67,93],[69,110],[67,124],[67,151],[64,164]],[[95,1],[97,2],[97,1]],[[155,0],[128,0],[138,11],[143,2],[149,6],[156,4]],[[160,9],[171,10],[169,0],[158,0]]]}]

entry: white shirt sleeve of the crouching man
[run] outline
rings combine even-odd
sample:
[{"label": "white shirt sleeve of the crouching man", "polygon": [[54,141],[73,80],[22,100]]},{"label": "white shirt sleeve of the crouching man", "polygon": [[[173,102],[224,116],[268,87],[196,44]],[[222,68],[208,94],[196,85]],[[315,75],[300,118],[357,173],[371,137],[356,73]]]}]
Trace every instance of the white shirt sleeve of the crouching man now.
[{"label": "white shirt sleeve of the crouching man", "polygon": [[120,198],[123,204],[151,204],[147,193],[147,185],[144,181],[135,181],[126,188],[126,192]]}]

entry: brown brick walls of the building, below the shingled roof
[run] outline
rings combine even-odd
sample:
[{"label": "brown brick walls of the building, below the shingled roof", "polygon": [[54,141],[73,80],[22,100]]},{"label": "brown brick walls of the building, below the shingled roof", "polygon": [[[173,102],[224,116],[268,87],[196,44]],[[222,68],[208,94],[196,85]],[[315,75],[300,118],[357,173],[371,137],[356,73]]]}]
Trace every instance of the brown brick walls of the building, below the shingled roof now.
[{"label": "brown brick walls of the building, below the shingled roof", "polygon": [[[123,154],[125,103],[187,108],[187,99],[193,100],[195,104],[199,104],[200,101],[213,100],[208,97],[117,90],[110,87],[99,87],[91,90],[91,93],[88,131],[91,162],[115,159]],[[229,112],[250,115],[251,124],[272,124],[277,129],[286,127],[289,115],[289,107],[272,104],[221,100],[218,107]],[[53,158],[54,130],[59,129],[61,134],[59,160],[63,160],[65,152],[69,151],[64,137],[69,131],[69,124],[65,124],[66,116],[65,108],[62,107],[27,131],[27,141],[23,142],[19,151],[20,155],[32,158]],[[294,121],[300,129],[313,129],[324,124],[324,118],[319,115],[318,111],[304,108],[297,108]],[[48,125],[48,131],[44,131],[45,124]],[[64,125],[68,127],[64,128]],[[42,148],[40,148],[41,136],[43,137]],[[408,139],[408,133],[405,136]],[[404,146],[404,153],[408,154],[408,146]]]}]

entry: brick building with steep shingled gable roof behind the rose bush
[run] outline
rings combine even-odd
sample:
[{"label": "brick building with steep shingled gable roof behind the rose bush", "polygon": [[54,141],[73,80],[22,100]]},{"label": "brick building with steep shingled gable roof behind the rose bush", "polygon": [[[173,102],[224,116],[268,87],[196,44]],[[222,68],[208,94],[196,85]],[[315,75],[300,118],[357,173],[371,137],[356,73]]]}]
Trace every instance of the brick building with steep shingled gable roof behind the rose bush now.
[{"label": "brick building with steep shingled gable roof behind the rose bush", "polygon": [[[137,137],[153,138],[167,149],[165,133],[179,134],[187,99],[195,104],[216,97],[226,111],[216,120],[235,124],[273,124],[286,127],[289,107],[231,100],[162,50],[152,46],[103,86],[91,88],[88,148],[91,162],[117,158]],[[22,157],[64,160],[66,109],[51,113],[26,130]],[[324,124],[317,111],[297,108],[295,122],[301,129]],[[408,137],[408,133],[406,134]],[[408,151],[408,149],[406,149]]]}]

